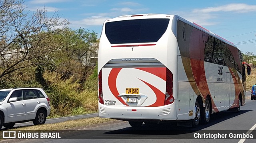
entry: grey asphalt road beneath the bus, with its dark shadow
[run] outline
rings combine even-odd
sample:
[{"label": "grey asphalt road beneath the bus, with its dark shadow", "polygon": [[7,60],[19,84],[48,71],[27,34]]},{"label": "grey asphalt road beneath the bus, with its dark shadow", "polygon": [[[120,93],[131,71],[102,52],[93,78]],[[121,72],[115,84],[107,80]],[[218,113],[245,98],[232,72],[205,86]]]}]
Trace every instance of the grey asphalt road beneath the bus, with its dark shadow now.
[{"label": "grey asphalt road beneath the bus, with its dark shadow", "polygon": [[[95,125],[86,128],[87,131],[73,131],[64,133],[61,139],[28,139],[18,140],[21,143],[130,143],[138,141],[140,143],[254,143],[255,139],[192,139],[194,133],[246,133],[249,129],[255,130],[256,124],[256,100],[250,100],[250,92],[246,95],[246,106],[241,107],[239,113],[220,112],[212,114],[210,123],[200,125],[196,128],[177,127],[170,123],[164,124],[143,124],[140,130],[130,127],[126,121],[116,121],[110,124]],[[254,126],[254,127],[253,127]],[[256,133],[253,135],[256,136]],[[188,139],[189,138],[189,139]],[[254,137],[256,138],[256,137]]]}]

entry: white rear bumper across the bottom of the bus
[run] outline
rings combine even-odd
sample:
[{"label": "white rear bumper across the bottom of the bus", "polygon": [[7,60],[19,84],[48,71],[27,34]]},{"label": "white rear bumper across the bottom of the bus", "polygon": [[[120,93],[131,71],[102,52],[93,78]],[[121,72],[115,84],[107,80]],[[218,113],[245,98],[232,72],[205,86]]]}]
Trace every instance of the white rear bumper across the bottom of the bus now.
[{"label": "white rear bumper across the bottom of the bus", "polygon": [[160,107],[106,106],[99,104],[100,118],[176,120],[176,109],[171,105]]}]

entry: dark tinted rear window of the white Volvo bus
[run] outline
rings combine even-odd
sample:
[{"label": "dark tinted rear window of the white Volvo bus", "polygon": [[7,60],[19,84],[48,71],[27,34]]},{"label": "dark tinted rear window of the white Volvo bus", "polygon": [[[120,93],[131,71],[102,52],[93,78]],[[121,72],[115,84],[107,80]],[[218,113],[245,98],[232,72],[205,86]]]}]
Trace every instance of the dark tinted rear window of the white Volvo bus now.
[{"label": "dark tinted rear window of the white Volvo bus", "polygon": [[123,20],[106,23],[106,36],[111,44],[157,42],[170,19]]}]

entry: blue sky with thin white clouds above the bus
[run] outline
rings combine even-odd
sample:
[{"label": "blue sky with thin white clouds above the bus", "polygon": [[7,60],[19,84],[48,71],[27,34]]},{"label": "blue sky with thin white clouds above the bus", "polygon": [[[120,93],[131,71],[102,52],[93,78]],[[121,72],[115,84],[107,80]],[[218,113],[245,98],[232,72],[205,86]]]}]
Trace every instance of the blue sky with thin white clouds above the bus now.
[{"label": "blue sky with thin white clouds above the bus", "polygon": [[45,8],[72,29],[100,33],[105,20],[134,14],[178,15],[256,55],[256,0],[24,0],[26,10]]}]

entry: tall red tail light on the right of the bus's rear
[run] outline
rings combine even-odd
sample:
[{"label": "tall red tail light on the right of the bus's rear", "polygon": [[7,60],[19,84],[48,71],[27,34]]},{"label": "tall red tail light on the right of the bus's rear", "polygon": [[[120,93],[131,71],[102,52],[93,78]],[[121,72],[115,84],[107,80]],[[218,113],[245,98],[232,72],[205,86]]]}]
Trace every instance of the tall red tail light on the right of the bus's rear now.
[{"label": "tall red tail light on the right of the bus's rear", "polygon": [[166,93],[164,105],[172,104],[174,97],[172,96],[172,72],[166,68]]}]

